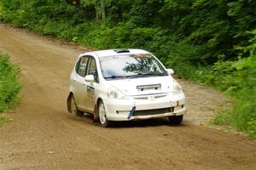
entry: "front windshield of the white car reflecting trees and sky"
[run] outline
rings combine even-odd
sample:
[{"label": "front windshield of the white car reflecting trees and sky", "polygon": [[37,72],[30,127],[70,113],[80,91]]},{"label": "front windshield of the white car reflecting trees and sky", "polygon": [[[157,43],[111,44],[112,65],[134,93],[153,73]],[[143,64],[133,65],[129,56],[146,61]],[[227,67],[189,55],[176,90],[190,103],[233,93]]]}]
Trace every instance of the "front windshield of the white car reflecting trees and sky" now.
[{"label": "front windshield of the white car reflecting trees and sky", "polygon": [[151,54],[124,54],[100,58],[105,79],[167,76],[166,70]]}]

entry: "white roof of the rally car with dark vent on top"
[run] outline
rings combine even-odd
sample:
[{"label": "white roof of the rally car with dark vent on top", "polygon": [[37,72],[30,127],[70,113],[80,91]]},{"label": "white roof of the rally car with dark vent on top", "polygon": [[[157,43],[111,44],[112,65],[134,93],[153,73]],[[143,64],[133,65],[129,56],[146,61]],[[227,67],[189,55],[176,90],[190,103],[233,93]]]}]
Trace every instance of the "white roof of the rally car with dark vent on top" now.
[{"label": "white roof of the rally car with dark vent on top", "polygon": [[119,55],[119,54],[149,54],[149,52],[143,49],[124,48],[124,49],[107,49],[107,50],[91,51],[81,55],[93,55],[93,54],[96,54],[99,58],[101,58],[101,57]]}]

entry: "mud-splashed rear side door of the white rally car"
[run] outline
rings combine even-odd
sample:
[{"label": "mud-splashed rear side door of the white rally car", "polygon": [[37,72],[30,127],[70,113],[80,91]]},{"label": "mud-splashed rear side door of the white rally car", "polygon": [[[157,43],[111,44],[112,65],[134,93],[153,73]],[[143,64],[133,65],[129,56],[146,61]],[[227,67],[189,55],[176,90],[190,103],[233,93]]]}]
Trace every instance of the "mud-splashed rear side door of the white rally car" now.
[{"label": "mud-splashed rear side door of the white rally car", "polygon": [[84,81],[84,77],[87,72],[88,64],[89,56],[82,56],[76,66],[76,75],[73,77],[76,104],[81,110],[88,109],[88,105],[86,105],[84,102],[84,97],[87,96],[86,82]]}]

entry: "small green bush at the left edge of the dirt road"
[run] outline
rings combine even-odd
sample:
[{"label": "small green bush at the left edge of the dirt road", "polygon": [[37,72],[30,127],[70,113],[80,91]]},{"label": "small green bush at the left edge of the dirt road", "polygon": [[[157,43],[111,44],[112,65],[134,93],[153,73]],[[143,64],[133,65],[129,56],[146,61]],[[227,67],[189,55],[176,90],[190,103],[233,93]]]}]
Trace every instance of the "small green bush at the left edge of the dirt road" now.
[{"label": "small green bush at the left edge of the dirt road", "polygon": [[0,113],[14,108],[18,102],[19,72],[19,67],[9,62],[9,56],[0,53]]}]

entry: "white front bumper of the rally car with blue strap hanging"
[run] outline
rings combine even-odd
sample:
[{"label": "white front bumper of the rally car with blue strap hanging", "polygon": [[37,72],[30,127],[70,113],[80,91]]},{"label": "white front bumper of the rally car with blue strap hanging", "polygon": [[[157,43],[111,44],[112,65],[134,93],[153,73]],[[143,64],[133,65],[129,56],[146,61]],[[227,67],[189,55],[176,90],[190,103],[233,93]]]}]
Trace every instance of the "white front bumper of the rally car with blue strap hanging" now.
[{"label": "white front bumper of the rally car with blue strap hanging", "polygon": [[[154,97],[152,98],[152,96]],[[107,118],[110,121],[131,121],[136,119],[180,116],[187,111],[183,93],[145,95],[131,97],[131,99],[108,99],[104,104],[107,111]],[[134,106],[137,112],[135,111],[131,117],[128,117]]]}]

